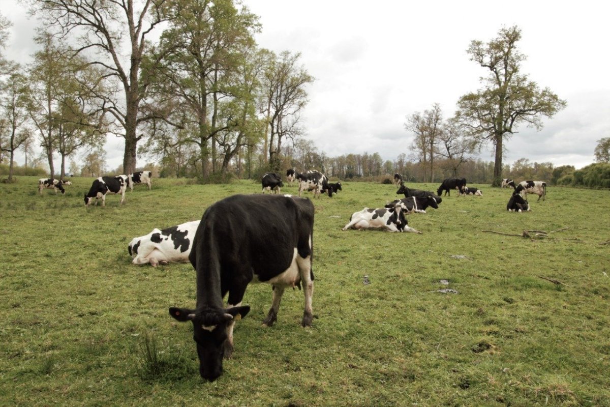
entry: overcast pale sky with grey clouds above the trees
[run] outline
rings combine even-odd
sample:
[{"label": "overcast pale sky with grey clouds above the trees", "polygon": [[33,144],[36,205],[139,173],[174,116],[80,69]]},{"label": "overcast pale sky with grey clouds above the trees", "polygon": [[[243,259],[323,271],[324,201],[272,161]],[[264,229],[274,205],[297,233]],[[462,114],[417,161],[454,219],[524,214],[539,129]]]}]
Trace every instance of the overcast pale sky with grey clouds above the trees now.
[{"label": "overcast pale sky with grey clouds above the trees", "polygon": [[[33,27],[16,0],[1,0],[13,22],[7,57],[27,62]],[[522,72],[567,101],[536,132],[525,126],[506,142],[505,164],[531,162],[584,167],[597,140],[610,137],[610,24],[604,2],[246,0],[260,16],[262,48],[301,53],[315,77],[302,115],[307,138],[327,156],[409,155],[406,117],[439,103],[449,118],[459,97],[487,72],[468,60],[472,40],[487,42],[501,27],[522,30]],[[123,139],[110,136],[109,168],[123,162]],[[493,160],[490,150],[481,154]],[[23,164],[23,157],[18,158]],[[145,164],[140,158],[138,165]]]}]

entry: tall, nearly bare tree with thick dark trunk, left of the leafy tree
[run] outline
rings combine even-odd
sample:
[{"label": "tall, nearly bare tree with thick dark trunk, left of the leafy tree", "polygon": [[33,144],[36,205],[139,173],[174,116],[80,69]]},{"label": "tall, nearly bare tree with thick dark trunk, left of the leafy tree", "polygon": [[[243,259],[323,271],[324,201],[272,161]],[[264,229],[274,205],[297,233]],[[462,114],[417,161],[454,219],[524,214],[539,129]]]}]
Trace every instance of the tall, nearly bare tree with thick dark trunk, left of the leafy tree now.
[{"label": "tall, nearly bare tree with thick dark trunk, left of the leafy tree", "polygon": [[[93,57],[90,63],[102,70],[102,77],[116,81],[122,88],[122,97],[118,90],[95,95],[114,118],[116,134],[125,139],[123,168],[126,173],[134,171],[137,143],[143,137],[137,133],[138,124],[151,119],[151,115],[140,112],[152,77],[140,75],[142,61],[150,45],[148,38],[165,21],[159,10],[168,0],[34,1],[35,12],[40,13],[49,32],[56,32],[62,40],[77,35],[76,54],[88,53]],[[149,62],[149,72],[154,71],[154,65]]]}]

